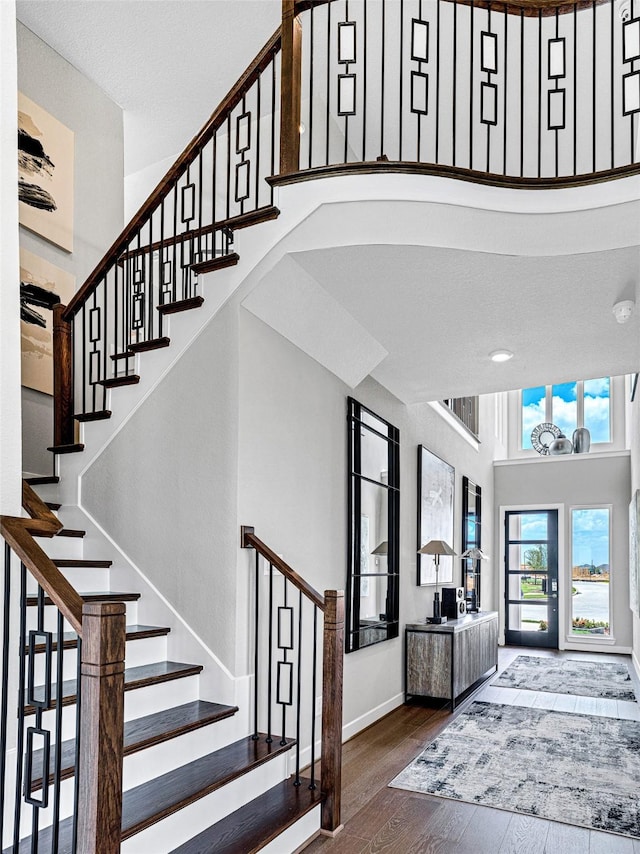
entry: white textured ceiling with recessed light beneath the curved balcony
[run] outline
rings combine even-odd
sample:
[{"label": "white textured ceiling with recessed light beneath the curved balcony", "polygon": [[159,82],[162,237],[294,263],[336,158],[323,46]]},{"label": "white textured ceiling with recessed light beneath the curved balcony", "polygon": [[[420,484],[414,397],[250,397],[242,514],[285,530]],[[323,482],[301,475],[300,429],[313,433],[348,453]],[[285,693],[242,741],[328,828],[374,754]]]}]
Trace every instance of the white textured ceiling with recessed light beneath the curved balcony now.
[{"label": "white textured ceiling with recessed light beneath the curved balcony", "polygon": [[[611,312],[637,281],[637,247],[515,257],[374,245],[293,257],[388,351],[372,376],[405,403],[624,374],[640,364],[640,312],[624,326]],[[284,269],[290,275],[278,265],[270,280]],[[514,358],[495,364],[489,353],[498,348]]]}]

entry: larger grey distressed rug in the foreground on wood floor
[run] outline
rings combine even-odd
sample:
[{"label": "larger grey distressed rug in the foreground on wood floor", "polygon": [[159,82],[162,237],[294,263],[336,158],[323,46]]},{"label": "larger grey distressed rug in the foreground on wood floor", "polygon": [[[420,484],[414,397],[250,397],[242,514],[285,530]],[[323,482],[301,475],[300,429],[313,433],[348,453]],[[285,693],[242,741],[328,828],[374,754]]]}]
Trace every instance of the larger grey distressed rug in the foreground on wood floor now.
[{"label": "larger grey distressed rug in the foreground on wood floor", "polygon": [[475,702],[389,784],[640,837],[640,723]]}]

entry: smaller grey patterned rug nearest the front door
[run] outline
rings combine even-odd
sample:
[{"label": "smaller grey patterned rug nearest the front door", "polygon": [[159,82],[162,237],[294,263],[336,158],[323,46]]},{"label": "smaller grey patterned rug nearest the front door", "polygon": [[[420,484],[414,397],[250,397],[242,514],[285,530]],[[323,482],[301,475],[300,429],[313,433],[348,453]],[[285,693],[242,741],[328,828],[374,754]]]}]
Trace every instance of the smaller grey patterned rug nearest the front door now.
[{"label": "smaller grey patterned rug nearest the front door", "polygon": [[609,662],[519,655],[491,684],[608,700],[636,699],[629,668]]}]

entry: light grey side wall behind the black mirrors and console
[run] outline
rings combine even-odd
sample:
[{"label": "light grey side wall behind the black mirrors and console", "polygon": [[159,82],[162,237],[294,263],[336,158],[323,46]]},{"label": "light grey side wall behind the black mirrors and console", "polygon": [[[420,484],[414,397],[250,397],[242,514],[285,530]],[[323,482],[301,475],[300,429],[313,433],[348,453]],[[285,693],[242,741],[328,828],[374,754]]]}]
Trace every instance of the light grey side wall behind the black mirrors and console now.
[{"label": "light grey side wall behind the black mirrors and console", "polygon": [[[347,573],[347,396],[400,430],[400,637],[345,657],[344,723],[351,735],[401,702],[403,632],[431,613],[433,586],[416,586],[417,445],[456,469],[455,539],[460,552],[462,475],[483,487],[483,546],[493,523],[493,398],[481,398],[476,450],[429,404],[406,407],[371,379],[349,389],[253,315],[240,317],[239,521],[284,555],[317,590],[345,589]],[[239,577],[250,557],[240,556]],[[492,598],[483,566],[483,607]],[[460,562],[454,581],[460,583]],[[486,585],[486,586],[485,586]],[[246,591],[239,606],[248,601]],[[244,619],[247,619],[245,613]],[[239,619],[239,626],[242,619]],[[238,668],[248,664],[238,662]]]}]

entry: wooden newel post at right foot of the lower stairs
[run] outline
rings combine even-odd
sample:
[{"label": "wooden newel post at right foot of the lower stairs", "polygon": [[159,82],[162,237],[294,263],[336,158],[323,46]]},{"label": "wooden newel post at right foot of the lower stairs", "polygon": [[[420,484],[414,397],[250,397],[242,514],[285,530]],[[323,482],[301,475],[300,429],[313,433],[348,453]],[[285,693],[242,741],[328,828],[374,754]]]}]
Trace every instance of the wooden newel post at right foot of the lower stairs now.
[{"label": "wooden newel post at right foot of the lower stairs", "polygon": [[342,789],[342,664],[344,659],[344,593],[326,590],[322,661],[322,829],[340,824]]}]

